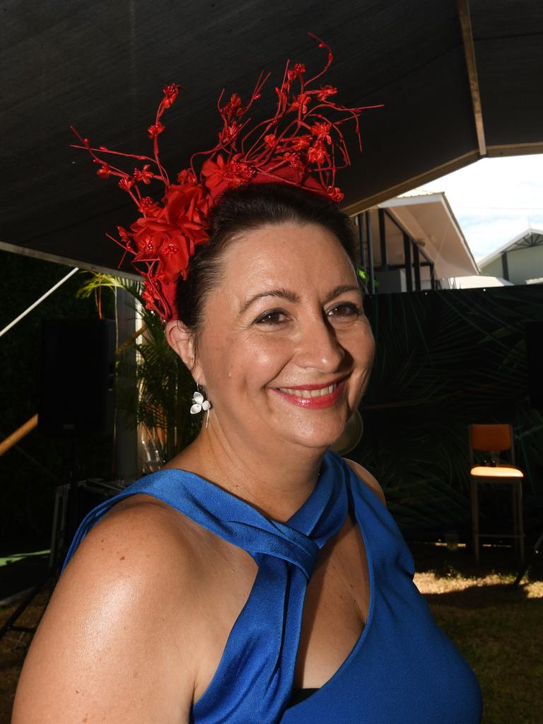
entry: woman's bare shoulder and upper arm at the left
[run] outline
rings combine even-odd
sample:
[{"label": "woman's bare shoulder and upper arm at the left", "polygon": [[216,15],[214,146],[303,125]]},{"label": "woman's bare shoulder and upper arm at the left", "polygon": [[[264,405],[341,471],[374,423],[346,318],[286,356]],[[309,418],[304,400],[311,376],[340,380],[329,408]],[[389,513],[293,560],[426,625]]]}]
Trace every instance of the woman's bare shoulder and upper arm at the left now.
[{"label": "woman's bare shoulder and upper arm at the left", "polygon": [[174,513],[133,496],[85,536],[35,633],[12,724],[188,721],[198,562]]}]

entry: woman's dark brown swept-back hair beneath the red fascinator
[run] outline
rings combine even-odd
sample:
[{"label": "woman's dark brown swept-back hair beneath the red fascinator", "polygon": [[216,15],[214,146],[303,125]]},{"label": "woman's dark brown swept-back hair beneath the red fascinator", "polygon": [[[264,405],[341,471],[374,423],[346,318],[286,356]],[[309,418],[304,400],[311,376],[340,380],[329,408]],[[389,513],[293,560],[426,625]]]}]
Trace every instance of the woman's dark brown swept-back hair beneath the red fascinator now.
[{"label": "woman's dark brown swept-back hair beneath the red fascinator", "polygon": [[177,285],[177,317],[191,332],[203,325],[206,295],[221,279],[222,252],[233,237],[268,224],[319,224],[340,241],[353,260],[355,231],[333,201],[297,186],[253,184],[226,191],[210,214],[209,241],[196,247],[188,278]]}]

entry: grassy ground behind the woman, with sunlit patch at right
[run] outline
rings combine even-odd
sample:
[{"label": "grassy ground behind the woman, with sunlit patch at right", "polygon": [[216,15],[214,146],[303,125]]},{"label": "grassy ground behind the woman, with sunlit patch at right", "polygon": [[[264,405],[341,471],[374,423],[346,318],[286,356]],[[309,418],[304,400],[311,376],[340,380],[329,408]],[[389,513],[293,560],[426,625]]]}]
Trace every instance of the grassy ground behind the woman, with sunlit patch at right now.
[{"label": "grassy ground behind the woman, with sunlit patch at right", "polygon": [[[470,662],[484,697],[483,724],[543,722],[543,555],[513,589],[517,564],[508,549],[485,547],[481,569],[460,547],[413,544],[416,584],[439,626]],[[47,601],[43,591],[20,623],[31,625]],[[0,623],[16,607],[0,607]],[[0,724],[9,724],[17,678],[30,634],[0,641]]]}]

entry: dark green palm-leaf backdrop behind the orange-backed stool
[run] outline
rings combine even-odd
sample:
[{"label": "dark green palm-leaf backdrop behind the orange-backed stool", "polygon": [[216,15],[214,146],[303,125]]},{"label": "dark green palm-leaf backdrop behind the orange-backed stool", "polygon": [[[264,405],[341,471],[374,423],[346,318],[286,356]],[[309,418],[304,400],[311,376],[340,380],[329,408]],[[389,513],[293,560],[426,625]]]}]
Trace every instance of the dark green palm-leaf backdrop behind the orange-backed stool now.
[{"label": "dark green palm-leaf backdrop behind the orange-backed stool", "polygon": [[[366,311],[376,358],[351,455],[379,479],[404,534],[468,539],[468,424],[486,422],[513,424],[525,525],[540,532],[543,418],[529,405],[524,325],[543,319],[543,285],[374,295]],[[485,487],[487,531],[508,531],[507,493]]]}]

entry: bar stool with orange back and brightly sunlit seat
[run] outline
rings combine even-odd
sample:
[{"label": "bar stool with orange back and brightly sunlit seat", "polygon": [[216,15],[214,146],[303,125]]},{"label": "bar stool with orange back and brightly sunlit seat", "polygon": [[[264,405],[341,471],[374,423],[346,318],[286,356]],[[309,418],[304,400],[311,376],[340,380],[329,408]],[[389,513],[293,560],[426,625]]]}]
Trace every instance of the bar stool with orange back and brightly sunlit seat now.
[{"label": "bar stool with orange back and brightly sunlit seat", "polygon": [[[473,451],[487,452],[489,458],[484,464],[476,464]],[[510,451],[510,464],[500,460],[500,452]],[[479,565],[479,539],[513,538],[515,552],[524,561],[524,523],[522,512],[523,471],[515,466],[515,448],[513,429],[508,424],[470,425],[469,426],[469,462],[471,494],[471,534],[473,552]],[[511,504],[513,510],[513,533],[481,533],[479,531],[479,487],[481,484],[508,484],[511,486]]]}]

